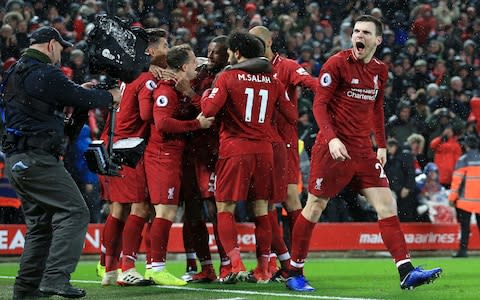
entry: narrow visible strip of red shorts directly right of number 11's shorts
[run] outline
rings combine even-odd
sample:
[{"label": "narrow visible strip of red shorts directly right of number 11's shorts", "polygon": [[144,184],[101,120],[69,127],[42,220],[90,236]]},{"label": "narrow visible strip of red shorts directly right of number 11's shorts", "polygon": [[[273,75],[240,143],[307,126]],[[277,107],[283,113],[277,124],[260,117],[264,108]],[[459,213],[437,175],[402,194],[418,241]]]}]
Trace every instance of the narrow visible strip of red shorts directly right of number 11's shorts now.
[{"label": "narrow visible strip of red shorts directly right of number 11's shorts", "polygon": [[[288,163],[285,143],[272,143],[273,148],[273,187],[270,203],[281,203],[287,200]],[[298,179],[298,177],[297,177]]]}]

